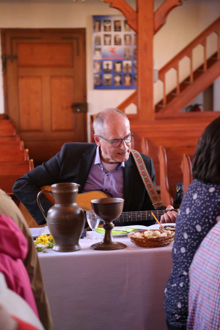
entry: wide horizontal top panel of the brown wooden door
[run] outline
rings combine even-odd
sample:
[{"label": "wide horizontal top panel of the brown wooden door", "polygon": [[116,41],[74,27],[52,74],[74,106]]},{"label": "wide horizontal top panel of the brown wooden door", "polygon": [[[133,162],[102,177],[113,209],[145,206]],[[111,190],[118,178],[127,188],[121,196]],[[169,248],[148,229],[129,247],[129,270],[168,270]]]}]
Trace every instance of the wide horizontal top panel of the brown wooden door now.
[{"label": "wide horizontal top panel of the brown wooden door", "polygon": [[18,67],[71,67],[72,44],[19,42],[17,56]]}]

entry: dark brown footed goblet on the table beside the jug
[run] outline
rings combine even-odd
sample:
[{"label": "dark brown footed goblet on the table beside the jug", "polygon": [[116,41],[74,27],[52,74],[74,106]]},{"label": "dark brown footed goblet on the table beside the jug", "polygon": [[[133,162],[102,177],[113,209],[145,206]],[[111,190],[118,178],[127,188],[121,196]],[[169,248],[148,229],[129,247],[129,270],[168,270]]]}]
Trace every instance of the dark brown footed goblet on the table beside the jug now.
[{"label": "dark brown footed goblet on the table beside the jug", "polygon": [[91,200],[95,215],[104,221],[105,236],[102,242],[95,243],[91,248],[95,250],[119,250],[126,248],[123,243],[115,242],[111,230],[114,228],[113,220],[121,214],[124,206],[123,198],[98,198]]}]

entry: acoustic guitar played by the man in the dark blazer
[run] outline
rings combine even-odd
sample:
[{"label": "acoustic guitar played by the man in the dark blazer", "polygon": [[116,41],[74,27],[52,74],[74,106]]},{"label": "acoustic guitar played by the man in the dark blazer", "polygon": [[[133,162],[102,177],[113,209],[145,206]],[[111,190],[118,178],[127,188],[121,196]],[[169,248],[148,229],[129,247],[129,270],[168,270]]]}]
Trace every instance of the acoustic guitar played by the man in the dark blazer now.
[{"label": "acoustic guitar played by the man in the dark blazer", "polygon": [[[41,187],[41,190],[43,189],[48,189],[51,190],[51,186],[43,186]],[[45,193],[44,194],[47,199],[54,204],[54,199],[50,194]],[[77,195],[77,204],[83,209],[83,211],[89,211],[92,210],[91,208],[91,203],[90,201],[92,199],[97,199],[97,198],[106,198],[109,197],[107,194],[105,194],[102,191],[89,191],[89,192],[84,192],[81,194]],[[29,214],[29,212],[27,211],[27,209],[25,208],[25,206],[20,203],[19,209],[21,211],[21,213],[24,215],[28,226],[31,227],[43,227],[45,225],[42,226],[38,226],[37,222],[33,219],[33,217]],[[175,212],[178,212],[178,210],[172,210]],[[127,221],[143,221],[143,220],[153,220],[153,215],[151,214],[151,212],[153,212],[153,214],[158,218],[160,218],[161,215],[167,213],[167,211],[165,210],[153,210],[153,211],[131,211],[131,212],[122,212],[121,215],[119,216],[118,219],[114,220],[114,222],[118,223],[118,222],[127,222]]]}]

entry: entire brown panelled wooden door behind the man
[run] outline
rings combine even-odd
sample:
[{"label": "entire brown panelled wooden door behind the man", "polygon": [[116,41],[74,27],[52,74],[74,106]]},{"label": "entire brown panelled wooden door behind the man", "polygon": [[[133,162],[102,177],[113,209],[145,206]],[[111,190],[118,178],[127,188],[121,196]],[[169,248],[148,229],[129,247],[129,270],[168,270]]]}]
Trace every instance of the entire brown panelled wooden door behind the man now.
[{"label": "entire brown panelled wooden door behind the man", "polygon": [[3,29],[5,112],[35,161],[86,142],[85,29]]}]

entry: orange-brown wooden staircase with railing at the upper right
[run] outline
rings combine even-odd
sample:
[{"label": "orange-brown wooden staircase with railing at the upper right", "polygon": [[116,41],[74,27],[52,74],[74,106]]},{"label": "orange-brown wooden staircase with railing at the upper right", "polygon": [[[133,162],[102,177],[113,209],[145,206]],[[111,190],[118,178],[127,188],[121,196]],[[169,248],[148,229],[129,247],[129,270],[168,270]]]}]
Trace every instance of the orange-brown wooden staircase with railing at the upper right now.
[{"label": "orange-brown wooden staircase with railing at the upper right", "polygon": [[[218,36],[217,51],[209,58],[206,57],[207,37],[211,33]],[[193,49],[198,45],[203,46],[204,62],[193,71]],[[190,59],[190,76],[179,82],[179,62],[187,56]],[[176,87],[166,94],[166,74],[170,69],[176,71]],[[209,25],[198,37],[182,49],[173,59],[171,59],[158,72],[159,80],[163,82],[163,99],[155,106],[155,112],[171,115],[178,113],[188,103],[190,103],[200,92],[204,91],[220,75],[220,17]],[[122,102],[118,109],[124,109],[131,103],[137,105],[137,91]],[[134,116],[135,117],[135,116]],[[130,118],[130,115],[129,115]],[[132,118],[132,116],[131,116]]]}]

